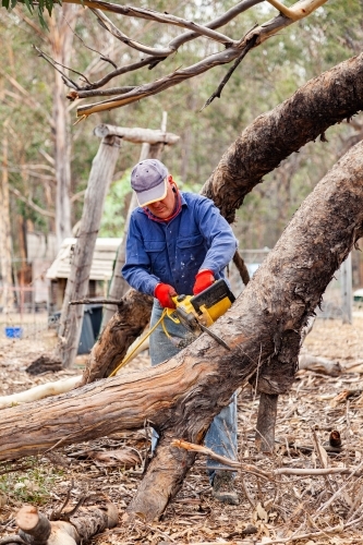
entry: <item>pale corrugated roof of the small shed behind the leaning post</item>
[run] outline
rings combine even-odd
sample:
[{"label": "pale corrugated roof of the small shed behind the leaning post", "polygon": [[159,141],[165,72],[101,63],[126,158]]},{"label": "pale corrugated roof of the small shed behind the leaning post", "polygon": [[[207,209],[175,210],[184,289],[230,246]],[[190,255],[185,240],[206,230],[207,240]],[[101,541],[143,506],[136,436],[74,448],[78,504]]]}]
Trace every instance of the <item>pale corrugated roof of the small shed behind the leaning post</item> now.
[{"label": "pale corrugated roof of the small shed behind the leaning post", "polygon": [[[122,239],[97,239],[90,266],[89,280],[110,280],[113,262]],[[47,278],[68,278],[71,272],[71,262],[76,239],[64,239],[60,251],[47,270]]]}]

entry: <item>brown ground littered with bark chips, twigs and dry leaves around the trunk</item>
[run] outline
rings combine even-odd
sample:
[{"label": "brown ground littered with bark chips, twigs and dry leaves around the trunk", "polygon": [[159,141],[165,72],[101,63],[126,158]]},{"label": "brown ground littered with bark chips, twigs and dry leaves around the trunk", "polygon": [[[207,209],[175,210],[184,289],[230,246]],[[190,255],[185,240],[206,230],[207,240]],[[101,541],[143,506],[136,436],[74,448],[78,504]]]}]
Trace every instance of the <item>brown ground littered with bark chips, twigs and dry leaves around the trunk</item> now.
[{"label": "brown ground littered with bark chips, twigs and dry leaves around the trunk", "polygon": [[[85,358],[78,358],[70,372],[28,375],[26,366],[52,343],[51,330],[23,339],[1,338],[0,395],[82,372]],[[92,545],[362,544],[363,313],[354,314],[352,325],[317,319],[304,346],[314,355],[338,360],[342,373],[338,377],[306,370],[298,373],[291,391],[279,399],[273,457],[258,453],[254,445],[258,397],[251,388],[239,393],[239,506],[213,499],[205,459],[199,456],[159,522],[145,524],[141,519],[132,529],[119,524],[95,536]],[[124,372],[146,365],[144,353]],[[340,451],[329,447],[332,431],[340,433]],[[118,506],[121,520],[142,479],[147,448],[145,432],[140,429],[2,463],[0,543],[16,533],[14,514],[20,506],[36,505],[49,516],[62,506],[70,489],[70,507],[85,493],[105,495]],[[109,457],[97,459],[100,452]],[[253,473],[246,464],[255,467]],[[312,475],[313,469],[322,467],[351,471]],[[292,474],[281,474],[288,469]],[[299,469],[304,471],[298,474]]]}]

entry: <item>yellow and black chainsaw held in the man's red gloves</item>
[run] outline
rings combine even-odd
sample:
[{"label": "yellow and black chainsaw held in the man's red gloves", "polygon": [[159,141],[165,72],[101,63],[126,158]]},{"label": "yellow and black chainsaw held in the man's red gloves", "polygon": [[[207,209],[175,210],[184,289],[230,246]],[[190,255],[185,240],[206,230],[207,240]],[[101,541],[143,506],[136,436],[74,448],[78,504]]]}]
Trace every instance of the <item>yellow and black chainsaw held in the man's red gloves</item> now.
[{"label": "yellow and black chainsaw held in the man's red gloves", "polygon": [[207,332],[219,344],[230,350],[230,347],[209,329],[209,326],[235,301],[222,278],[197,295],[176,295],[172,300],[176,308],[168,308],[167,315],[170,319],[176,324],[182,324],[195,337],[198,337],[202,331]]}]

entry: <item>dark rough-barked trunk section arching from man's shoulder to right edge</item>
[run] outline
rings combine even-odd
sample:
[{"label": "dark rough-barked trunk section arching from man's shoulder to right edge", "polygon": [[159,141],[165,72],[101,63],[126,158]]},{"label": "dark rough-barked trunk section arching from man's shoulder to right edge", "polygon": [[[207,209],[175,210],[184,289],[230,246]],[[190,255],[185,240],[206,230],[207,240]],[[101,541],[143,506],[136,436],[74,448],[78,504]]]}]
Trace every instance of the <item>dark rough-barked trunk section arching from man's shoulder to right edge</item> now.
[{"label": "dark rough-barked trunk section arching from man's shoulder to right edge", "polygon": [[308,81],[259,116],[222,156],[202,189],[231,223],[263,177],[307,142],[363,108],[363,53]]}]

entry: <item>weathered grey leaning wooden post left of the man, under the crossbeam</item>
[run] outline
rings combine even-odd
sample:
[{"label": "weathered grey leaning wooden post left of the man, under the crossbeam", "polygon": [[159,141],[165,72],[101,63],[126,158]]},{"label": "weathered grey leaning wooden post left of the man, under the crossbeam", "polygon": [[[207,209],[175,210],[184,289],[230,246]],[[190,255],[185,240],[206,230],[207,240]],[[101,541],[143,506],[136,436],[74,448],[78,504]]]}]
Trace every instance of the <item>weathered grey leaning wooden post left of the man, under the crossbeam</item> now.
[{"label": "weathered grey leaning wooden post left of the man, under the crossbeam", "polygon": [[63,300],[58,334],[57,356],[64,367],[73,364],[80,343],[84,305],[70,306],[88,292],[89,270],[101,220],[104,201],[119,157],[120,137],[106,136],[94,158],[81,219],[81,233],[75,244],[70,277]]}]

